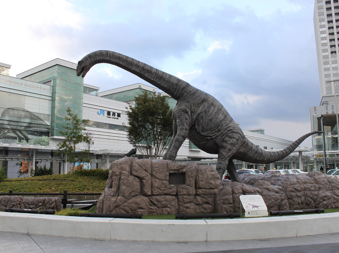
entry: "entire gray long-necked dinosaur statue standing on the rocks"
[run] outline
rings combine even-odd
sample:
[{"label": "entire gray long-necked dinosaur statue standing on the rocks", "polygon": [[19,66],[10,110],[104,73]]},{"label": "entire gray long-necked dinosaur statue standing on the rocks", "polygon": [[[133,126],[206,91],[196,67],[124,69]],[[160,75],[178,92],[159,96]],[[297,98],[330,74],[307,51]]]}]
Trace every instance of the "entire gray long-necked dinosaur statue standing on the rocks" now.
[{"label": "entire gray long-necked dinosaur statue standing on the rocks", "polygon": [[218,155],[216,170],[221,179],[227,170],[232,181],[240,181],[233,159],[261,164],[276,162],[291,154],[308,136],[321,133],[305,134],[278,152],[264,151],[245,137],[217,99],[187,82],[131,57],[107,50],[83,57],[78,62],[77,75],[84,77],[98,63],[113,64],[127,70],[176,99],[178,102],[172,115],[173,136],[163,159],[174,161],[180,146],[188,138],[201,150]]}]

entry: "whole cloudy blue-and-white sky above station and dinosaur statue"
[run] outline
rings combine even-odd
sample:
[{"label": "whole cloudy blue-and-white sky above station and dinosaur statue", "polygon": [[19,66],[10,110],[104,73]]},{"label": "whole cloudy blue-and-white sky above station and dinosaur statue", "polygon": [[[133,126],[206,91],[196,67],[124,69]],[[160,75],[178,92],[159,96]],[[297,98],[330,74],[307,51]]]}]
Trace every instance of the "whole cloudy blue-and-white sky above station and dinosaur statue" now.
[{"label": "whole cloudy blue-and-white sky above station and dinosaur statue", "polygon": [[[213,95],[242,129],[292,141],[311,131],[320,103],[312,0],[11,0],[1,9],[0,62],[11,76],[112,50]],[[108,64],[84,83],[147,84]]]}]

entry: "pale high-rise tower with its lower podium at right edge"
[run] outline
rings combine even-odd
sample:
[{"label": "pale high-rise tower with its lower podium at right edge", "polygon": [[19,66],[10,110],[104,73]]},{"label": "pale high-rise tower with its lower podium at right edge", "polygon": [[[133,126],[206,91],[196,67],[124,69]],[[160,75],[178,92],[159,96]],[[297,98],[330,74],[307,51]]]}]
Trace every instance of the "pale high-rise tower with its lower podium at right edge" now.
[{"label": "pale high-rise tower with its lower podium at right edge", "polygon": [[[313,150],[338,150],[338,106],[339,95],[339,2],[338,0],[315,0],[314,33],[316,40],[321,101],[310,108],[312,130],[324,130],[313,136]],[[339,97],[338,97],[339,99]]]}]

